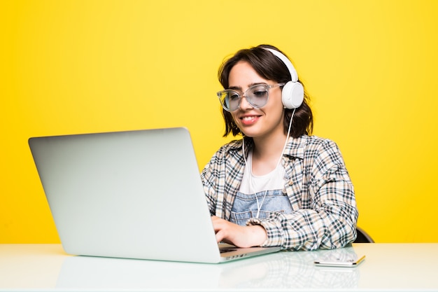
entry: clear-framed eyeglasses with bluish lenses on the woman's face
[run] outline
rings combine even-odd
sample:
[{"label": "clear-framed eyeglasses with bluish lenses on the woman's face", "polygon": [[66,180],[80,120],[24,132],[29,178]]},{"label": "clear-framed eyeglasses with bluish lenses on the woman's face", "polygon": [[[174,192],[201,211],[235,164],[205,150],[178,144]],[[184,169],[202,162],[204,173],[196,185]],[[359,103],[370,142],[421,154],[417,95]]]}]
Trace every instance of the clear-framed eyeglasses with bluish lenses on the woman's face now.
[{"label": "clear-framed eyeglasses with bluish lenses on the woman's face", "polygon": [[267,104],[269,89],[283,85],[285,85],[285,83],[277,83],[274,85],[257,84],[248,88],[243,94],[236,90],[226,89],[218,92],[217,95],[225,111],[236,111],[236,109],[239,109],[243,96],[245,96],[248,104],[258,109]]}]

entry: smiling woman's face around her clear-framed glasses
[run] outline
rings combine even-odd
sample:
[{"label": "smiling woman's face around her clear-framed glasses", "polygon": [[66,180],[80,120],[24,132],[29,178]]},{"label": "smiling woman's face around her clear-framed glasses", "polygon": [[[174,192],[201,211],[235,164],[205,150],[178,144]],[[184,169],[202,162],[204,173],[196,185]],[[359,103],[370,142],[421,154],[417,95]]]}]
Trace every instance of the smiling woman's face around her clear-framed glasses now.
[{"label": "smiling woman's face around her clear-framed glasses", "polygon": [[[256,84],[274,85],[277,82],[262,78],[248,62],[237,62],[228,76],[229,89],[245,92]],[[260,109],[254,108],[242,97],[240,107],[231,112],[234,123],[241,132],[248,137],[267,139],[273,135],[285,135],[283,131],[283,104],[281,102],[281,88],[269,89],[267,104]]]}]

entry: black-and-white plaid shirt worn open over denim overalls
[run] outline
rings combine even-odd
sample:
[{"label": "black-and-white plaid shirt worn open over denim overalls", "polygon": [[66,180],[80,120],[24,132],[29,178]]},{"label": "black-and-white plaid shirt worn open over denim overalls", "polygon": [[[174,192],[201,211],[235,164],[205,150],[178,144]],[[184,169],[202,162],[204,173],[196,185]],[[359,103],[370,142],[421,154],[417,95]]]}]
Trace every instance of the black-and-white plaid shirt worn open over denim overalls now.
[{"label": "black-and-white plaid shirt worn open over denim overalls", "polygon": [[[247,152],[253,144],[251,139],[245,142]],[[268,218],[248,221],[267,230],[262,246],[314,250],[335,249],[353,242],[358,209],[337,144],[316,136],[291,137],[282,164],[287,181],[283,193],[288,195],[293,211],[272,212]],[[204,167],[202,182],[212,215],[229,221],[244,168],[242,140],[222,146]]]}]

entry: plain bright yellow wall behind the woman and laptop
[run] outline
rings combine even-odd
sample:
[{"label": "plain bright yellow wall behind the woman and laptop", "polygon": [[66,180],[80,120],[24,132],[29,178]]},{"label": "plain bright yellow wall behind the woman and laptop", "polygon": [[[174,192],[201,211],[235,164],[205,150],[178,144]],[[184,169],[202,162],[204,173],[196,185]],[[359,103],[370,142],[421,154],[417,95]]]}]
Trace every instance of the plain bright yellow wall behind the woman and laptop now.
[{"label": "plain bright yellow wall behind the woman and laptop", "polygon": [[0,243],[59,242],[29,137],[185,126],[202,168],[227,141],[218,66],[260,43],[295,62],[359,225],[437,242],[437,15],[428,0],[0,1]]}]

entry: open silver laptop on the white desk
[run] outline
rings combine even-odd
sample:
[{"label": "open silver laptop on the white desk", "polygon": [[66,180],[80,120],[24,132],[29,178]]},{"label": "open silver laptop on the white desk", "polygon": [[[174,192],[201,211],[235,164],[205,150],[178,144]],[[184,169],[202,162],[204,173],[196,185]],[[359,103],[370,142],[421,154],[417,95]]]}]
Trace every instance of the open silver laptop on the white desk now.
[{"label": "open silver laptop on the white desk", "polygon": [[221,263],[280,250],[216,242],[184,127],[33,137],[29,146],[66,253]]}]

